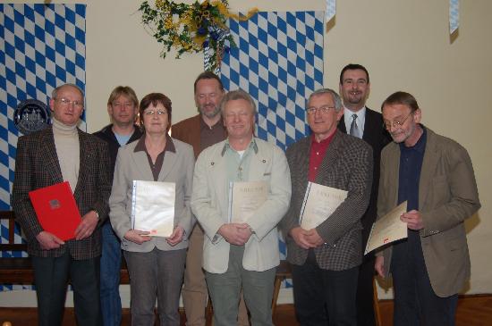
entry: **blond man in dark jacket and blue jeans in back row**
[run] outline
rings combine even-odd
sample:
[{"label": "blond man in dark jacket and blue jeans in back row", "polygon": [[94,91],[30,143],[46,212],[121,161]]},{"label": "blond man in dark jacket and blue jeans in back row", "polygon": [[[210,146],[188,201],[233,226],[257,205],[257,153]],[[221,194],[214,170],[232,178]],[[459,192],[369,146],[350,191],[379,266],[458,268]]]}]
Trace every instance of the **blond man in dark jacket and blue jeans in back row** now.
[{"label": "blond man in dark jacket and blue jeans in back row", "polygon": [[[107,99],[107,113],[113,123],[94,135],[106,141],[111,159],[111,178],[115,171],[116,155],[120,146],[130,144],[142,135],[135,117],[139,112],[139,99],[128,86],[118,86]],[[103,253],[101,255],[101,311],[105,326],[122,323],[120,297],[120,265],[122,250],[109,219],[103,224]]]}]

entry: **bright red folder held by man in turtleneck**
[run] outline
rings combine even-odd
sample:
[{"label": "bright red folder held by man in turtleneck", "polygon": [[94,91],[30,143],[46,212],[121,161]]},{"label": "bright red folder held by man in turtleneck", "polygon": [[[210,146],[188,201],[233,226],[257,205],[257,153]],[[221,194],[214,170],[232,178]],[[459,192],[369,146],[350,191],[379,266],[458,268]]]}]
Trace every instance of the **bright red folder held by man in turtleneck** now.
[{"label": "bright red folder held by man in turtleneck", "polygon": [[29,196],[44,230],[64,241],[75,238],[81,213],[67,181],[30,191]]}]

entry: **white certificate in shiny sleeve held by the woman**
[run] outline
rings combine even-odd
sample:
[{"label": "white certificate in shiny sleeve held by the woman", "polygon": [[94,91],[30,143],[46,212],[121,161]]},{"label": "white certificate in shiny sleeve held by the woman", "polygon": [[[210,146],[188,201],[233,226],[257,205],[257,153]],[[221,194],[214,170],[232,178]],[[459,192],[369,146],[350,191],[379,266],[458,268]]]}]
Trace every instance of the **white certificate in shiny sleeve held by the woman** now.
[{"label": "white certificate in shiny sleeve held by the woman", "polygon": [[133,230],[148,231],[153,237],[169,237],[174,230],[175,188],[174,182],[133,180]]}]

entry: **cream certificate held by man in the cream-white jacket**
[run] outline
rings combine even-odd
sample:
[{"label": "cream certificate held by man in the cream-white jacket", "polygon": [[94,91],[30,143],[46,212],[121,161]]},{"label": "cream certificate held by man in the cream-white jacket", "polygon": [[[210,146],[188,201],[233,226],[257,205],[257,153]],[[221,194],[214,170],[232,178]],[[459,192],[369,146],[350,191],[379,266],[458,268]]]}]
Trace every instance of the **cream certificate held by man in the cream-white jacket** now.
[{"label": "cream certificate held by man in the cream-white jacket", "polygon": [[267,201],[266,181],[230,182],[229,222],[248,222],[253,213]]}]

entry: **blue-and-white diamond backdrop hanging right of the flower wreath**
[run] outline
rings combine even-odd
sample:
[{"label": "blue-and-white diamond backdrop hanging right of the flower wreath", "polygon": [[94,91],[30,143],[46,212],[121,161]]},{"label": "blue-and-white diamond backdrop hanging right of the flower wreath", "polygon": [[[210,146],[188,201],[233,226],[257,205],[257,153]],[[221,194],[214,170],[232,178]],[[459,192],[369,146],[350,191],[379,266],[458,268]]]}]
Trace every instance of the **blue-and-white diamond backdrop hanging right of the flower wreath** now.
[{"label": "blue-and-white diamond backdrop hanging right of the flower wreath", "polygon": [[[253,97],[256,135],[283,149],[310,133],[305,106],[323,87],[323,19],[323,12],[260,12],[248,21],[229,20],[238,47],[224,55],[224,87]],[[285,259],[282,239],[280,254]]]}]

